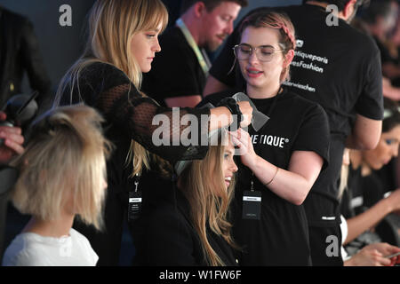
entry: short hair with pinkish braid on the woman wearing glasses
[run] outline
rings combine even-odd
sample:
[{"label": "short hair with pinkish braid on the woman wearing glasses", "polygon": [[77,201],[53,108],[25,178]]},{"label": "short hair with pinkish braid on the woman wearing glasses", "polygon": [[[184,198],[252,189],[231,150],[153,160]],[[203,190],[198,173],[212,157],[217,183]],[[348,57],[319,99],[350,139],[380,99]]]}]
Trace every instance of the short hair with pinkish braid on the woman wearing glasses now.
[{"label": "short hair with pinkish braid on the woman wearing glasses", "polygon": [[[296,38],[292,21],[283,12],[265,11],[255,12],[242,22],[239,30],[242,35],[245,28],[275,28],[279,30],[279,45],[284,51],[284,55],[290,50],[296,49]],[[290,65],[285,67],[280,76],[280,82],[290,80]]]}]

